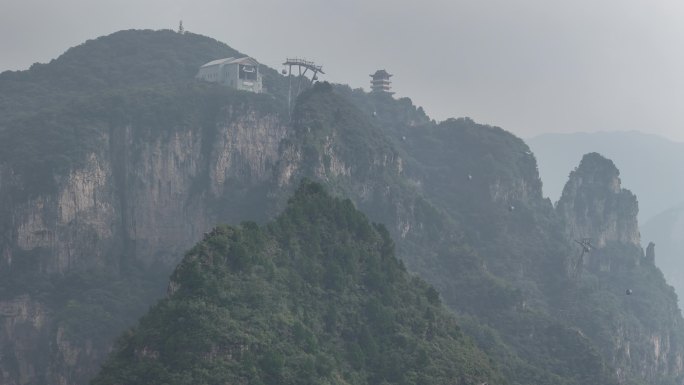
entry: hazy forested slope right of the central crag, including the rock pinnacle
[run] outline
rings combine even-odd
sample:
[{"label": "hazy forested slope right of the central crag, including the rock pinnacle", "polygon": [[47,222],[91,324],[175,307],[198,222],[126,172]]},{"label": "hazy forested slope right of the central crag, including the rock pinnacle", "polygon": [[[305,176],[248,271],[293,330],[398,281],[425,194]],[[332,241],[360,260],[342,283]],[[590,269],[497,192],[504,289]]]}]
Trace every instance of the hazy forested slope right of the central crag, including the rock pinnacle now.
[{"label": "hazy forested slope right of the central crag, including the rock pinnacle", "polygon": [[[509,380],[681,382],[681,317],[662,274],[643,256],[636,200],[620,189],[612,162],[589,156],[568,183],[565,209],[556,211],[542,198],[534,155],[509,133],[468,119],[434,125],[402,105],[405,100],[343,92],[383,126],[413,185],[449,214],[459,243],[479,255],[473,261],[484,272],[464,269],[468,259],[462,247],[431,259],[433,269],[409,267],[433,283],[453,309],[488,326],[468,330],[506,363]],[[609,245],[594,252],[604,257],[588,258],[612,263],[609,277],[595,275],[600,264],[579,282],[574,277],[574,239],[583,236]],[[644,263],[630,265],[634,260]],[[625,294],[637,286],[639,297]],[[496,287],[506,289],[492,290]],[[638,342],[624,343],[630,339]],[[579,359],[584,361],[574,361]],[[592,367],[593,378],[573,378]]]}]

